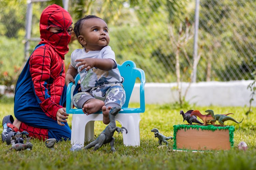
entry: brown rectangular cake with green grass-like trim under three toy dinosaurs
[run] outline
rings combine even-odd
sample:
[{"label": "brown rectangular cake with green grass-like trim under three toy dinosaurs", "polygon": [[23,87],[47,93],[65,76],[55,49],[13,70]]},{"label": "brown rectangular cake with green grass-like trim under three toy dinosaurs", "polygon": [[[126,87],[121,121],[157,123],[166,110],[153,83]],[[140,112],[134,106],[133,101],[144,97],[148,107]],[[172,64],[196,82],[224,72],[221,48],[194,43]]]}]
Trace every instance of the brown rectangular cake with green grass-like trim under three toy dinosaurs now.
[{"label": "brown rectangular cake with green grass-like trim under three toy dinosaurs", "polygon": [[173,149],[229,150],[233,146],[233,126],[208,126],[174,125]]}]

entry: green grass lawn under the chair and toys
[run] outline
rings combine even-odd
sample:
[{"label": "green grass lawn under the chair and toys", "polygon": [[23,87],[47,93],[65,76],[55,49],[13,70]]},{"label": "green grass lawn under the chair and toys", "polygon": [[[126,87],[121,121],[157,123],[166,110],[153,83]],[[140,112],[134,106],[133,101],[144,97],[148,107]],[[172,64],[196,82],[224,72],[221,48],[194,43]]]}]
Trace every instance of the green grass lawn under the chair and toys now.
[{"label": "green grass lawn under the chair and toys", "polygon": [[[0,100],[0,120],[5,115],[13,115],[13,100]],[[138,104],[132,104],[138,106]],[[141,114],[140,121],[140,147],[125,147],[122,135],[115,133],[116,152],[110,151],[110,145],[104,145],[99,150],[70,151],[70,141],[55,144],[55,150],[45,147],[43,141],[31,139],[32,150],[9,150],[11,146],[0,142],[1,169],[255,169],[256,144],[255,144],[255,114],[245,116],[247,107],[197,107],[182,108],[199,109],[204,113],[212,109],[216,114],[234,113],[233,118],[241,124],[226,121],[225,125],[233,125],[234,147],[229,151],[208,151],[203,153],[176,152],[168,148],[158,148],[157,138],[151,129],[157,128],[166,136],[173,135],[173,125],[184,124],[180,109],[173,109],[171,105],[146,105],[145,113]],[[252,109],[256,112],[256,108]],[[68,122],[71,126],[72,115]],[[218,123],[217,123],[218,124]],[[120,126],[119,123],[117,123]],[[1,122],[2,131],[2,122]],[[95,122],[96,136],[105,128],[100,121]],[[246,152],[237,149],[240,141],[248,145]],[[169,140],[172,148],[173,141]]]}]

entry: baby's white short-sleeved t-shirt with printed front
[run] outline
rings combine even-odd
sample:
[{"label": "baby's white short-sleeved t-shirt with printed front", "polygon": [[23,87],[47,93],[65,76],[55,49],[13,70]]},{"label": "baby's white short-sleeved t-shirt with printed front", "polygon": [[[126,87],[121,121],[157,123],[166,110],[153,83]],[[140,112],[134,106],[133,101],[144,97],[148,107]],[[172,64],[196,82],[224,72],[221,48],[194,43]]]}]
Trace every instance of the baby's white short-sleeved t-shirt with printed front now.
[{"label": "baby's white short-sleeved t-shirt with printed front", "polygon": [[[91,68],[88,71],[86,71],[86,69],[79,71],[79,68],[83,65],[76,67],[76,64],[80,62],[75,62],[75,60],[84,58],[110,58],[115,62],[115,67],[109,71],[100,70],[96,67]],[[92,87],[101,86],[102,84],[122,82],[122,78],[115,61],[115,53],[112,51],[110,46],[106,46],[100,51],[88,51],[87,53],[85,52],[85,49],[76,49],[71,54],[70,64],[72,67],[76,68],[80,74],[82,91],[87,91]]]}]

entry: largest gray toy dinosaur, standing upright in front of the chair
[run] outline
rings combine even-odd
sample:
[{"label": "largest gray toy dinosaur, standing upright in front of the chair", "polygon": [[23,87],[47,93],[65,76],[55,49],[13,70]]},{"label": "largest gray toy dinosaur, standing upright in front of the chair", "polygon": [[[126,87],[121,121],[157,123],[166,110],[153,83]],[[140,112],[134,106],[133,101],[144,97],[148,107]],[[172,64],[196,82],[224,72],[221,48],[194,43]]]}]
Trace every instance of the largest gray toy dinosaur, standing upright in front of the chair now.
[{"label": "largest gray toy dinosaur, standing upright in front of the chair", "polygon": [[114,142],[115,142],[115,138],[113,138],[114,132],[116,131],[118,133],[123,133],[123,129],[125,129],[126,134],[128,133],[125,127],[122,127],[122,128],[116,127],[115,116],[120,111],[120,109],[121,109],[120,107],[112,107],[110,109],[110,112],[109,112],[110,123],[106,126],[105,130],[100,133],[99,137],[94,141],[90,142],[85,147],[85,149],[94,147],[94,151],[95,151],[99,149],[103,144],[110,143],[111,151],[112,152],[116,151],[114,148]]}]

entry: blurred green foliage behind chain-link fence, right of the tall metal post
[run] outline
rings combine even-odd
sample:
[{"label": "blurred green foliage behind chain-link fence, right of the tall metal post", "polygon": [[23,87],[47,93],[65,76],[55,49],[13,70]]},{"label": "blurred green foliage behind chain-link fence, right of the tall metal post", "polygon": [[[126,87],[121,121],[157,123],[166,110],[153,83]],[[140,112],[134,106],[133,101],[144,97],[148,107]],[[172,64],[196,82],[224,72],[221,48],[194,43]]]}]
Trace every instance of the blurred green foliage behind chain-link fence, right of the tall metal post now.
[{"label": "blurred green foliage behind chain-link fence, right of the tall metal post", "polygon": [[256,14],[251,11],[255,5],[255,1],[200,1],[199,43],[206,60],[199,65],[206,68],[207,63],[212,63],[211,73],[216,81],[239,80],[241,73],[245,80],[253,79],[256,34],[251,24]]}]

